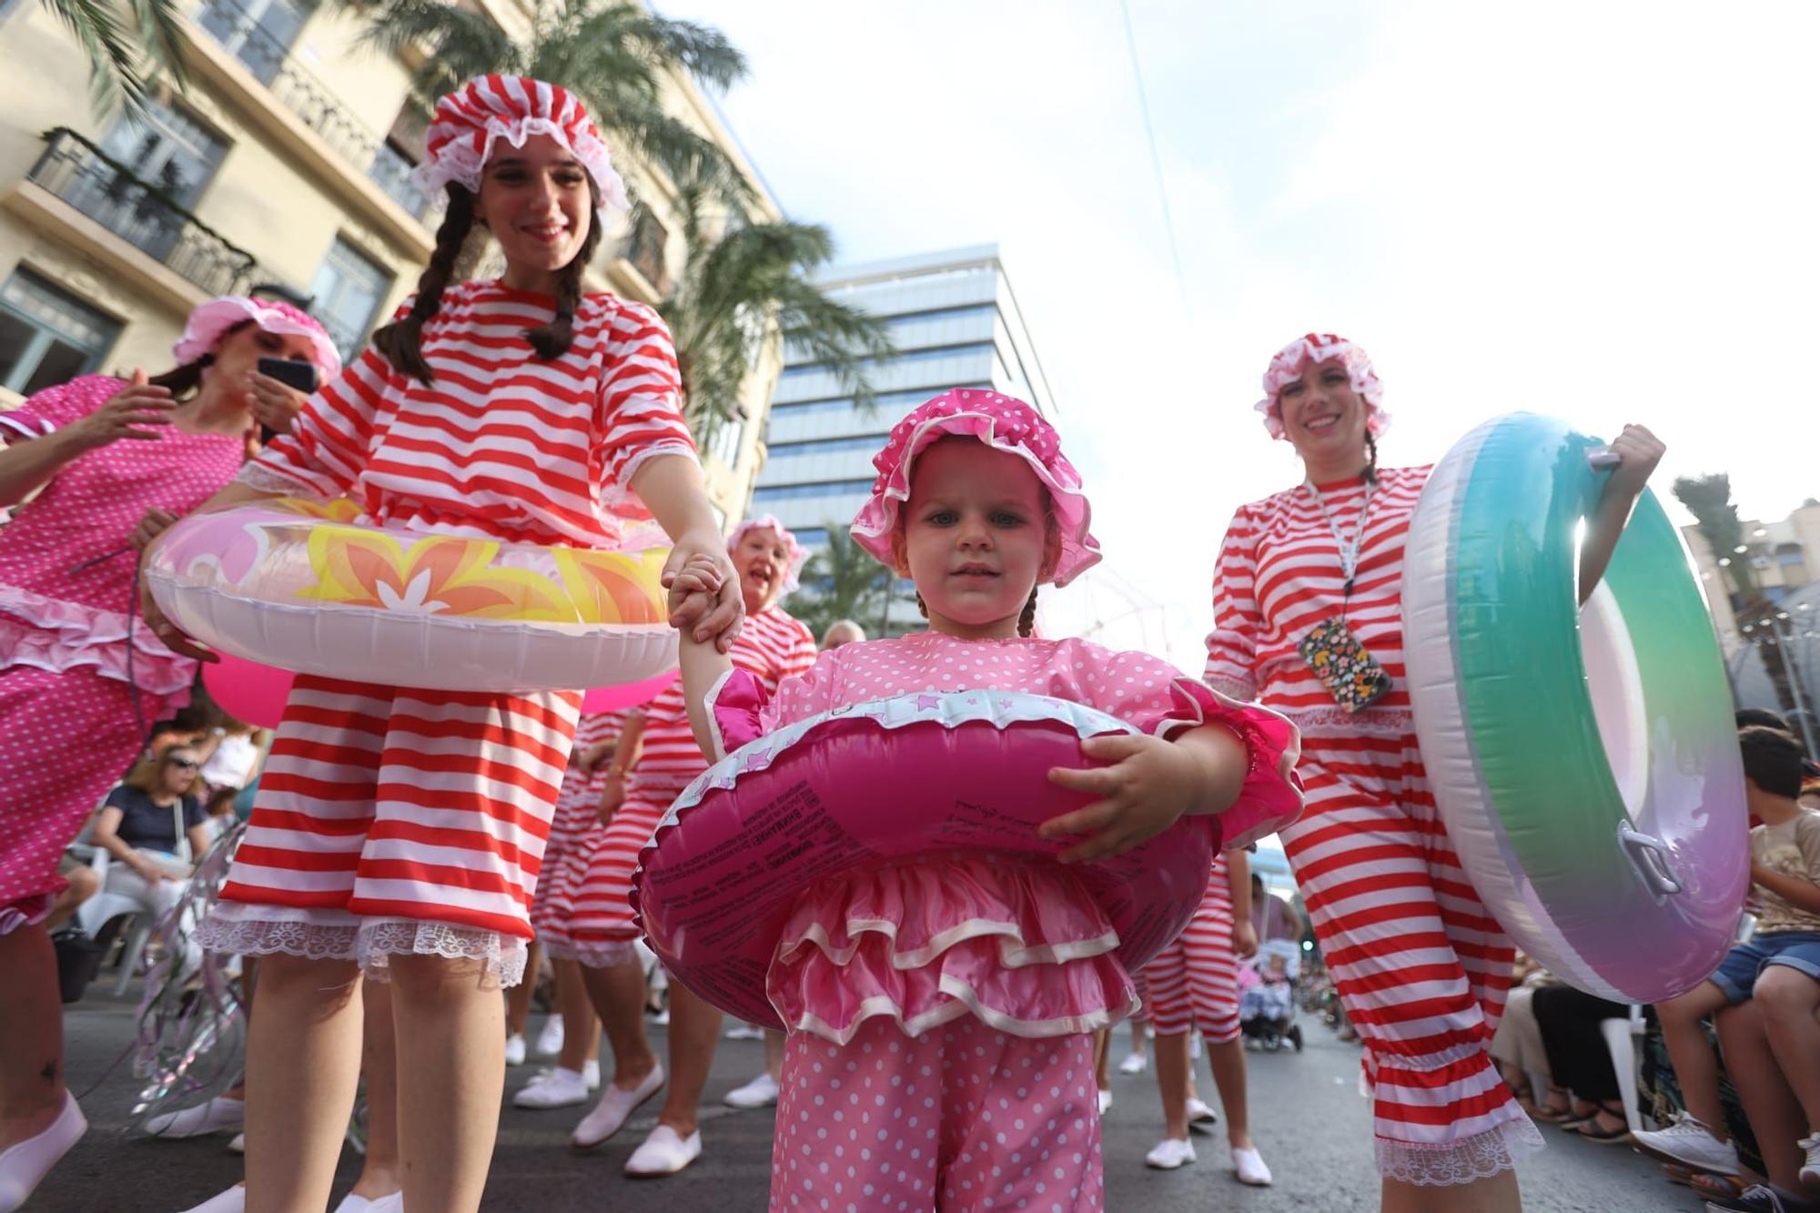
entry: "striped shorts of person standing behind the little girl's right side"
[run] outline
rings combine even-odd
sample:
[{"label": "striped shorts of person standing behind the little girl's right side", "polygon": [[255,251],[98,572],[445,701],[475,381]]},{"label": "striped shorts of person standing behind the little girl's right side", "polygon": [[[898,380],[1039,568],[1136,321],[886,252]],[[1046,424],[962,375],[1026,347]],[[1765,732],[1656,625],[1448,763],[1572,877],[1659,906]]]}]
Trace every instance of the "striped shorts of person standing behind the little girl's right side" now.
[{"label": "striped shorts of person standing behind the little girl's right side", "polygon": [[1232,887],[1227,882],[1227,856],[1218,854],[1194,918],[1143,967],[1150,1027],[1159,1036],[1178,1036],[1198,1027],[1212,1044],[1236,1040],[1238,967],[1238,954],[1232,951]]}]

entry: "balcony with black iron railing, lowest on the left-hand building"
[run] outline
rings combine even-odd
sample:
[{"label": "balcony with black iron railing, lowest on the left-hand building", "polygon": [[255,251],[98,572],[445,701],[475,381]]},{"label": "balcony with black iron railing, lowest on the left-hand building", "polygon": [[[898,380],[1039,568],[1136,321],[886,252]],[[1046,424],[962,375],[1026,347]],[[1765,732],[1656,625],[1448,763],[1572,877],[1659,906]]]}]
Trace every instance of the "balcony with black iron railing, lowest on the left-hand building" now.
[{"label": "balcony with black iron railing, lowest on the left-hand building", "polygon": [[46,131],[27,178],[209,295],[244,291],[258,262],[82,135]]}]

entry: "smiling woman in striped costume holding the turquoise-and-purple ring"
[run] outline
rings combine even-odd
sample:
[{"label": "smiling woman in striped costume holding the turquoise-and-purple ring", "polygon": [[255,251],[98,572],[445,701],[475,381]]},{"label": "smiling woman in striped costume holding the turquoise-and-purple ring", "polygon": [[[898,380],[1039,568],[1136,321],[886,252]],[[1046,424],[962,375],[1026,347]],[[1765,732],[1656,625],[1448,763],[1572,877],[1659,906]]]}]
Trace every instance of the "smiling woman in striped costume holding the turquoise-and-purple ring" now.
[{"label": "smiling woman in striped costume holding the turquoise-and-purple ring", "polygon": [[[1207,683],[1301,729],[1307,810],[1281,831],[1314,933],[1365,1042],[1385,1209],[1518,1209],[1516,1160],[1542,1137],[1487,1047],[1512,949],[1460,869],[1416,749],[1403,674],[1403,541],[1431,468],[1380,468],[1389,424],[1365,352],[1309,333],[1276,353],[1258,410],[1307,472],[1241,506],[1214,574]],[[1598,581],[1662,457],[1627,426],[1582,548]],[[1340,707],[1298,652],[1340,619],[1389,676]],[[1472,1191],[1434,1191],[1469,1186]]]}]

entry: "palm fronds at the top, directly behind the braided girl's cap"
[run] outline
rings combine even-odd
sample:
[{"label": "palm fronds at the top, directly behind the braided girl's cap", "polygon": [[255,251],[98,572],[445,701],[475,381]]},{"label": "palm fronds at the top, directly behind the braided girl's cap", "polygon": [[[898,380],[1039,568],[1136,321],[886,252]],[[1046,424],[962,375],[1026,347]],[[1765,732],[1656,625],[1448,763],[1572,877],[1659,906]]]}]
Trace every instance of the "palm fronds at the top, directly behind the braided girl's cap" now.
[{"label": "palm fronds at the top, directly behind the braided girl's cap", "polygon": [[699,178],[723,199],[753,197],[712,138],[662,109],[666,69],[723,91],[746,75],[744,55],[712,25],[659,16],[633,0],[539,0],[530,40],[517,42],[484,13],[446,0],[339,2],[366,18],[364,46],[428,51],[411,71],[424,113],[473,76],[535,76],[588,102],[613,151],[632,151],[672,178]]}]

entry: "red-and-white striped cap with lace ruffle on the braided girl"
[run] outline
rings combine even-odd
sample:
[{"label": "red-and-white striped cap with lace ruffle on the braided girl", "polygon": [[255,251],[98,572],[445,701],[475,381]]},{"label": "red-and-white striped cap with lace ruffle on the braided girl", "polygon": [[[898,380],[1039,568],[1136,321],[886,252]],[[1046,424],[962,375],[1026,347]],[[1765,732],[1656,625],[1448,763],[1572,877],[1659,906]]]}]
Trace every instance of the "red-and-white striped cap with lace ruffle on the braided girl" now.
[{"label": "red-and-white striped cap with lace ruffle on the braided girl", "polygon": [[444,95],[411,180],[430,197],[442,197],[450,182],[480,193],[480,169],[493,144],[504,138],[524,148],[533,135],[548,135],[581,160],[601,191],[602,213],[632,206],[588,109],[568,89],[530,76],[475,76]]}]

